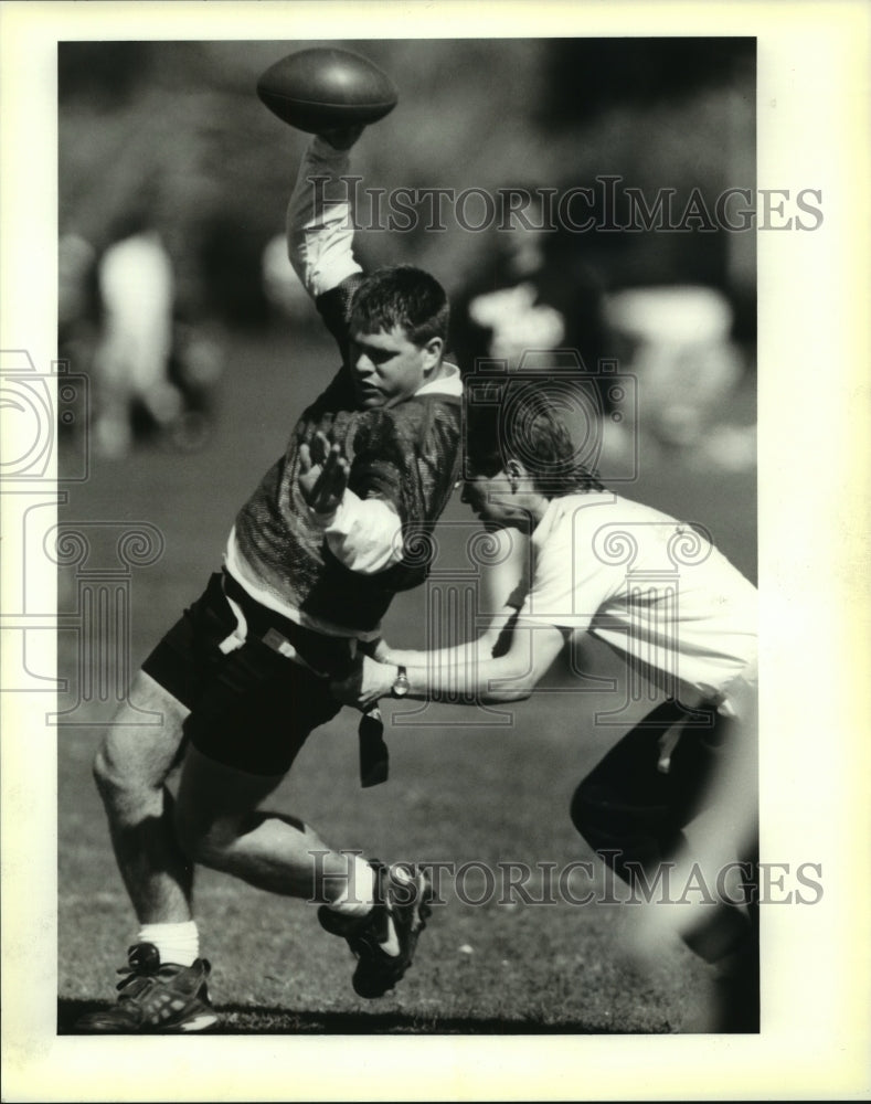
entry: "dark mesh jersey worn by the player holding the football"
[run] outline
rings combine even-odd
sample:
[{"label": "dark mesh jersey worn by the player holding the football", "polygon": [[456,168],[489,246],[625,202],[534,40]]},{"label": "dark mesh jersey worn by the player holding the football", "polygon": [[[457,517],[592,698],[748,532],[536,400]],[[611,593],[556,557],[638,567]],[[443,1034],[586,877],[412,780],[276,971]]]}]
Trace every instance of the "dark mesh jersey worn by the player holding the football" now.
[{"label": "dark mesh jersey worn by the player holding the football", "polygon": [[[344,359],[348,307],[363,277],[349,277],[320,296],[318,309]],[[297,484],[299,446],[321,431],[342,445],[349,487],[360,498],[391,502],[403,524],[400,562],[375,574],[346,567],[312,522]],[[419,585],[431,567],[427,533],[457,479],[461,397],[427,390],[389,410],[358,408],[347,362],[304,412],[284,456],[266,473],[238,512],[235,541],[243,585],[256,587],[302,622],[367,634],[376,629],[391,598]],[[256,595],[255,595],[256,596]]]}]

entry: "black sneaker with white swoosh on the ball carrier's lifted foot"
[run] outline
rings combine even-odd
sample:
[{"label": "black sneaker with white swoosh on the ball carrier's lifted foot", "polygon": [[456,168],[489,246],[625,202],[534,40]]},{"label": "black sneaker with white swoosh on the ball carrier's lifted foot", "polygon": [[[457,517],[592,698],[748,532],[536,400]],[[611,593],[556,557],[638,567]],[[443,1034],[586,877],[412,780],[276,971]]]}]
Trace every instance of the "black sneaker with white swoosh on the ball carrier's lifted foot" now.
[{"label": "black sneaker with white swoosh on the ball carrier's lifted foot", "polygon": [[414,949],[432,913],[433,890],[427,875],[414,867],[390,870],[373,861],[375,903],[365,916],[343,916],[321,905],[318,920],[331,935],[342,936],[357,957],[354,992],[383,997],[412,965]]}]

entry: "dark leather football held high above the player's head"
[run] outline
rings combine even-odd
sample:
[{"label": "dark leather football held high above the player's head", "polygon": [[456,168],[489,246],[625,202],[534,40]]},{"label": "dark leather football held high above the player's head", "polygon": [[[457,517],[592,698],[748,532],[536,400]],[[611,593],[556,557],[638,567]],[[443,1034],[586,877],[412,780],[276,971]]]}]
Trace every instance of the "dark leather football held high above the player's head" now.
[{"label": "dark leather football held high above the player's head", "polygon": [[332,49],[277,61],[257,82],[257,95],[279,119],[308,134],[376,123],[399,98],[391,78],[368,57]]}]

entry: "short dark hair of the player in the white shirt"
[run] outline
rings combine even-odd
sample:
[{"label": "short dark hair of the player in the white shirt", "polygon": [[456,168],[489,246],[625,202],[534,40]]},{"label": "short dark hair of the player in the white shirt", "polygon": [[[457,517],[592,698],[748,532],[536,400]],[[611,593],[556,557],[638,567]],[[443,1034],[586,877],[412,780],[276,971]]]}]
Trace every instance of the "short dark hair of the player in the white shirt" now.
[{"label": "short dark hair of the player in the white shirt", "polygon": [[512,399],[509,388],[501,402],[467,402],[465,429],[469,476],[495,476],[516,459],[549,498],[604,489],[578,459],[571,433],[541,389],[527,386]]}]

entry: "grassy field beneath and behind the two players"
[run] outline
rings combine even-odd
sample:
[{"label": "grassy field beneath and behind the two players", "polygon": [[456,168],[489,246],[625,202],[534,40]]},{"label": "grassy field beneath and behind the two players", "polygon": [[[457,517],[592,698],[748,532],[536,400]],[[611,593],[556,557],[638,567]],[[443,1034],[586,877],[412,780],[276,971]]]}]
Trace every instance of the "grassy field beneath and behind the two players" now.
[{"label": "grassy field beneath and behind the two players", "polygon": [[[179,455],[155,445],[126,461],[93,460],[88,480],[72,487],[62,513],[71,524],[104,522],[107,532],[118,523],[148,522],[163,535],[159,561],[130,576],[134,668],[220,565],[236,509],[282,450],[321,372],[334,365],[329,347],[285,332],[236,337],[229,354],[215,432],[201,452]],[[755,578],[754,484],[753,473],[711,473],[682,457],[642,454],[641,477],[628,492],[704,523]],[[449,558],[456,534],[471,520],[458,500],[445,520],[463,523],[445,541]],[[62,569],[60,582],[62,613],[73,613],[74,570]],[[422,644],[424,611],[423,592],[403,595],[385,623],[387,638]],[[72,627],[60,634],[60,657],[70,678],[63,710],[84,694]],[[371,790],[359,786],[355,714],[344,711],[309,740],[270,805],[310,820],[336,847],[391,862],[548,861],[562,869],[589,861],[569,819],[572,793],[642,707],[633,704],[623,728],[597,730],[595,710],[613,709],[625,688],[604,649],[584,659],[604,665],[614,687],[589,683],[583,692],[538,696],[517,707],[506,725],[482,724],[470,707],[431,707],[426,726],[395,724],[390,782]],[[557,671],[551,686],[559,682]],[[111,998],[115,968],[136,934],[91,781],[108,715],[107,703],[84,700],[76,713],[83,723],[62,728],[59,737],[61,1032]],[[601,881],[598,863],[594,870],[593,880]],[[583,888],[572,884],[576,892]],[[467,898],[485,895],[471,875],[465,888]],[[395,995],[367,1002],[351,989],[353,963],[343,943],[320,931],[312,906],[198,872],[202,954],[214,965],[211,988],[222,1030],[672,1032],[681,1030],[705,984],[703,968],[681,948],[654,975],[637,973],[615,937],[625,907],[500,903],[498,894],[476,905],[453,890],[446,881],[445,904],[434,910],[414,968]]]}]

